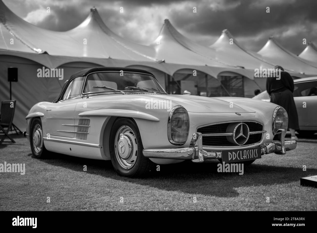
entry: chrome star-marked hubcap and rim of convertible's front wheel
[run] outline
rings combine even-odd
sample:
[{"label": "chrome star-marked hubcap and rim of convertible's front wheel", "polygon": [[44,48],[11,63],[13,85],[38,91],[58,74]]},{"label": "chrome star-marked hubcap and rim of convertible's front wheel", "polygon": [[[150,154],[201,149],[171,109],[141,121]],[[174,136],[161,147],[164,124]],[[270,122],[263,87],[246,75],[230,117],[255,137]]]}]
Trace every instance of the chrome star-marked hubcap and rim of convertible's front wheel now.
[{"label": "chrome star-marked hubcap and rim of convertible's front wheel", "polygon": [[115,154],[120,166],[130,169],[134,166],[138,154],[138,143],[135,133],[129,126],[121,126],[115,137]]}]

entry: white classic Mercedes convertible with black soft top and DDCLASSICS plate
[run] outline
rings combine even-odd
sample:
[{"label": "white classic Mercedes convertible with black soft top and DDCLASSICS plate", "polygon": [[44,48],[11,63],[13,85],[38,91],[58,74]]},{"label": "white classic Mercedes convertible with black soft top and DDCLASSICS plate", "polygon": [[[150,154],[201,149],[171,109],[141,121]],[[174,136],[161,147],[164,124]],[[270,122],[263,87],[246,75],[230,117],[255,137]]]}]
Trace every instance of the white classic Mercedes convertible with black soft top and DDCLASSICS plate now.
[{"label": "white classic Mercedes convertible with black soft top and DDCLASSICS plate", "polygon": [[286,111],[249,98],[168,95],[147,71],[95,67],[70,77],[53,103],[29,111],[36,158],[48,152],[111,160],[120,175],[185,160],[251,164],[285,154]]}]

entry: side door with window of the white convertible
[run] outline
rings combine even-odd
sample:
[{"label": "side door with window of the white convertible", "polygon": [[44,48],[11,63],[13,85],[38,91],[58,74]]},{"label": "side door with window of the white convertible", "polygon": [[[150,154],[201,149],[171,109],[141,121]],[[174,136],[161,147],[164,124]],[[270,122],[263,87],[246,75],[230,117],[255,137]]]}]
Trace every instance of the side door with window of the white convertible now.
[{"label": "side door with window of the white convertible", "polygon": [[76,77],[69,81],[60,100],[46,106],[44,118],[45,134],[74,138],[76,104],[81,100],[81,88],[84,77]]}]

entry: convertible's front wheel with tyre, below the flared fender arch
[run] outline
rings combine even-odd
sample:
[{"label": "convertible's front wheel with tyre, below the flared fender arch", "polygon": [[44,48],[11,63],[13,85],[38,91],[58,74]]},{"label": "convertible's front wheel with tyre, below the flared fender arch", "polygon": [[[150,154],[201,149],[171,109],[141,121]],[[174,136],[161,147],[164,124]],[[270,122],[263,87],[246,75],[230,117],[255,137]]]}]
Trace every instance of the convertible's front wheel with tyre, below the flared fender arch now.
[{"label": "convertible's front wheel with tyre, below the flared fender arch", "polygon": [[128,118],[118,118],[109,138],[112,165],[123,176],[143,176],[151,170],[152,161],[142,154],[143,146],[136,123]]}]

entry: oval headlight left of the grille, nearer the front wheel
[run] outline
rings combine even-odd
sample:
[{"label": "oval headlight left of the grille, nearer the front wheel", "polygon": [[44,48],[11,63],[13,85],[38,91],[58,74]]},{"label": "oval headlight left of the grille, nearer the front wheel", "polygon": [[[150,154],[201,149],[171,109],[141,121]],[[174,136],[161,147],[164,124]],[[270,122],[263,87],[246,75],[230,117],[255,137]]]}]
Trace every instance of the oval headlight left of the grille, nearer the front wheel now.
[{"label": "oval headlight left of the grille, nearer the front wheel", "polygon": [[189,116],[183,106],[177,105],[171,109],[168,115],[167,135],[173,145],[181,146],[188,138]]}]

